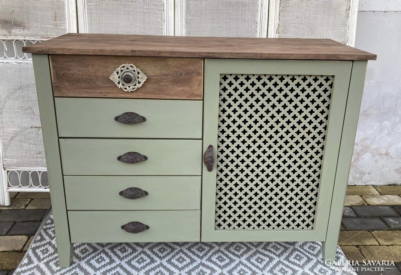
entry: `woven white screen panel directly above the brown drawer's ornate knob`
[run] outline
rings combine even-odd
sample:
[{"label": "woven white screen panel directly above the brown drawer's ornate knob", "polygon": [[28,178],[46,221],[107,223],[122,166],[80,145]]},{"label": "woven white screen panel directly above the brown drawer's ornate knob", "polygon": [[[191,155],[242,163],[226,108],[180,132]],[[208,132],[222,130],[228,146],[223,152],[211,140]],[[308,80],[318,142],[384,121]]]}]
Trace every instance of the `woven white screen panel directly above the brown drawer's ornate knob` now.
[{"label": "woven white screen panel directly above the brown drawer's ornate knob", "polygon": [[[81,33],[168,35],[170,0],[79,0]],[[171,26],[172,30],[172,26]],[[172,34],[172,33],[171,33]]]}]

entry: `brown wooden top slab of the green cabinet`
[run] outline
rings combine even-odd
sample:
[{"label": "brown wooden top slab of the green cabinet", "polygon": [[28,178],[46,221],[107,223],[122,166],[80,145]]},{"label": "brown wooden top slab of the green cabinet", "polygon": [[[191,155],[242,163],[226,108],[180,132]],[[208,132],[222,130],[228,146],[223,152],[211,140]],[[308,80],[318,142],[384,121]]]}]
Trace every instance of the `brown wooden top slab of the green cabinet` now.
[{"label": "brown wooden top slab of the green cabinet", "polygon": [[217,38],[66,34],[23,48],[24,53],[235,59],[375,60],[329,39]]}]

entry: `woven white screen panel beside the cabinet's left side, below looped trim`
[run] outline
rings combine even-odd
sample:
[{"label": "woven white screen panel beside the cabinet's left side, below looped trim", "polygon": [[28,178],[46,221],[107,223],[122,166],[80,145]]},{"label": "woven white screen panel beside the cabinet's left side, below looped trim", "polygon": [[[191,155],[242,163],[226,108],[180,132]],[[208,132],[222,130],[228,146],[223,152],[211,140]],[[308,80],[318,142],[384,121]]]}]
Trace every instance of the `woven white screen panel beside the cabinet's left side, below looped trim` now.
[{"label": "woven white screen panel beside the cabinet's left side, below looped trim", "polygon": [[0,144],[4,167],[44,167],[45,154],[31,62],[0,62]]}]

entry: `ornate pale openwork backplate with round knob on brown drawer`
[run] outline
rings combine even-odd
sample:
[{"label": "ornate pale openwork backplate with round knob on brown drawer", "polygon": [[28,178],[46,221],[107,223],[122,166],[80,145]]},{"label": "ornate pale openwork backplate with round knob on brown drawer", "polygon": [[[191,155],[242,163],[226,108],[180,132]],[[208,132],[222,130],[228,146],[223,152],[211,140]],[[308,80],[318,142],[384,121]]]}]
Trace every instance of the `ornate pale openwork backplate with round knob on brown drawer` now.
[{"label": "ornate pale openwork backplate with round knob on brown drawer", "polygon": [[133,92],[143,85],[147,76],[133,64],[122,64],[109,78],[124,92]]}]

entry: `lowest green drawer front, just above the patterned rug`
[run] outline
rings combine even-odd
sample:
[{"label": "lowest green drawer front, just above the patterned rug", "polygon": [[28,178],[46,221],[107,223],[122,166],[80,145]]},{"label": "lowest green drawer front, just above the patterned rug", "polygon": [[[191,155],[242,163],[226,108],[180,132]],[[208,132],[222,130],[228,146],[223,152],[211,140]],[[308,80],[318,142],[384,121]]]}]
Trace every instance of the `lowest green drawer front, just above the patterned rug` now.
[{"label": "lowest green drawer front, just above the patterned rug", "polygon": [[[200,241],[200,211],[68,211],[71,242]],[[139,221],[149,229],[121,228]]]}]

